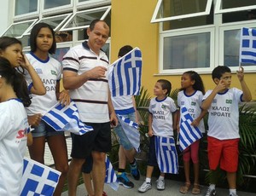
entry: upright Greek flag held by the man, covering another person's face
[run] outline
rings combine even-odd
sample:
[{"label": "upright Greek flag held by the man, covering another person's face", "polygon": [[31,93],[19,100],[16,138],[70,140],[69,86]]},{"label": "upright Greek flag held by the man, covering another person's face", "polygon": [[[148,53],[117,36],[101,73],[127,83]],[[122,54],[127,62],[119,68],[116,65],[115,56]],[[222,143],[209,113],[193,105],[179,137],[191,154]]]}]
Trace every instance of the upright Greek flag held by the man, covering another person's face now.
[{"label": "upright Greek flag held by the man, covering another person's face", "polygon": [[108,83],[112,96],[139,95],[142,77],[142,52],[132,49],[109,68]]}]

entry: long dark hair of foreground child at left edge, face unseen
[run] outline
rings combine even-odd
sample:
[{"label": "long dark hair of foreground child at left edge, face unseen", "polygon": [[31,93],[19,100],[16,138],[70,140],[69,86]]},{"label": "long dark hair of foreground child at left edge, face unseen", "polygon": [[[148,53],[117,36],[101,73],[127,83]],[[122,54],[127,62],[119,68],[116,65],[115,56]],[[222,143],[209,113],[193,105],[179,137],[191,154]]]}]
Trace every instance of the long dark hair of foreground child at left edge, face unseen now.
[{"label": "long dark hair of foreground child at left edge, face unseen", "polygon": [[0,75],[2,78],[5,78],[7,84],[12,85],[24,107],[29,107],[31,100],[24,75],[17,72],[17,70],[10,65],[10,62],[3,57],[0,57]]}]

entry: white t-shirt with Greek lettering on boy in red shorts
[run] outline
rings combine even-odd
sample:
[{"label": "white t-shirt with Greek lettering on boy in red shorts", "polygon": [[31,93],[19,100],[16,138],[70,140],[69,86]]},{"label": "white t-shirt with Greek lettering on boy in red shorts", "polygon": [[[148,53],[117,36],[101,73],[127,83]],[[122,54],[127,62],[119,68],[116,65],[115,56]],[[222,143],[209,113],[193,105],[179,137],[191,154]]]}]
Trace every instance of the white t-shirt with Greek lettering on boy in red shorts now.
[{"label": "white t-shirt with Greek lettering on boy in red shorts", "polygon": [[[203,97],[203,101],[212,93],[208,90]],[[218,140],[228,140],[240,138],[239,135],[239,108],[242,91],[240,89],[227,89],[224,93],[218,93],[209,107],[207,135]]]}]

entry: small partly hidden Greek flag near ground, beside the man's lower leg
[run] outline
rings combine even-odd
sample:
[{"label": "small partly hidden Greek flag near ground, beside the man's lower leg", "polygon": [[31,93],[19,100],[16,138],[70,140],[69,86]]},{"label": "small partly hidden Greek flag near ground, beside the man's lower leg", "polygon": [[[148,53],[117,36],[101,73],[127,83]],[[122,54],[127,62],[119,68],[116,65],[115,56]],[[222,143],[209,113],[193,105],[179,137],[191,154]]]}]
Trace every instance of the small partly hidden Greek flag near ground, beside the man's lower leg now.
[{"label": "small partly hidden Greek flag near ground, beside the man's lower leg", "polygon": [[117,191],[117,189],[119,188],[119,182],[117,182],[117,176],[113,170],[112,164],[108,159],[108,156],[106,156],[105,163],[106,163],[105,183],[107,183],[110,187],[112,187],[113,190]]}]

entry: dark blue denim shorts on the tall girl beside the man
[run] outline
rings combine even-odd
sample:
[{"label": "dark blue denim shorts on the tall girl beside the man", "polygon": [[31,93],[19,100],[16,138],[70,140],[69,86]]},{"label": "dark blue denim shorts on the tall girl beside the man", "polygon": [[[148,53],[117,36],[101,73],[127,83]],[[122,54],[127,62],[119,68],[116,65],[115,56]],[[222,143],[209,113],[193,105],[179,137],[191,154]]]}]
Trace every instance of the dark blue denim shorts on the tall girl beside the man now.
[{"label": "dark blue denim shorts on the tall girl beside the man", "polygon": [[35,127],[35,130],[32,130],[32,136],[33,137],[48,137],[52,135],[64,135],[64,131],[56,131],[54,130],[49,124],[46,124],[43,120],[40,122],[40,124]]}]

